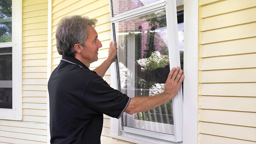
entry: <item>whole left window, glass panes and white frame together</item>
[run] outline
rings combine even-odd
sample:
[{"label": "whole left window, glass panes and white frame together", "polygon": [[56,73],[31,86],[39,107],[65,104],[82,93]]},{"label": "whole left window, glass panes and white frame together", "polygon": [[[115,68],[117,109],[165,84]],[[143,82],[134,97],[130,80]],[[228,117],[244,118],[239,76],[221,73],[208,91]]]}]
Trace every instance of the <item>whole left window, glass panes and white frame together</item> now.
[{"label": "whole left window, glass panes and white frame together", "polygon": [[0,4],[0,118],[21,120],[22,2],[5,0]]}]

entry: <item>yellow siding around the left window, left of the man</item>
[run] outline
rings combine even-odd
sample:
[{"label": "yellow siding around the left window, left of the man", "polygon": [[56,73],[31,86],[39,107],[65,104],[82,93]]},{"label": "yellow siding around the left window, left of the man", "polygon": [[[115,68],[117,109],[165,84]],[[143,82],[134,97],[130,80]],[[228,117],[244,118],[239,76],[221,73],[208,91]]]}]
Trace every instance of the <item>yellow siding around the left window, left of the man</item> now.
[{"label": "yellow siding around the left window, left of the man", "polygon": [[46,143],[47,0],[22,1],[22,121],[0,120],[0,143]]}]

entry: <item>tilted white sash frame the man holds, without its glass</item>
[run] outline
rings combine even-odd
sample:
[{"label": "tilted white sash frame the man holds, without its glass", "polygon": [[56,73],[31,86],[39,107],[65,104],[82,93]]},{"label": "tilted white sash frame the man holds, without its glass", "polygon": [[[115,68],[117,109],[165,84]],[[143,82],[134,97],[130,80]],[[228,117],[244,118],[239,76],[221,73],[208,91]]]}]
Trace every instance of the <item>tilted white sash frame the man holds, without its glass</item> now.
[{"label": "tilted white sash frame the man holds, without its glass", "polygon": [[[169,49],[169,60],[170,60],[170,68],[180,66],[180,53],[179,53],[179,37],[178,37],[178,24],[177,24],[177,12],[176,12],[176,2],[175,1],[159,1],[149,5],[145,5],[127,12],[123,12],[120,14],[115,15],[112,17],[112,6],[110,0],[110,13],[111,13],[111,33],[112,33],[112,40],[116,41],[116,33],[115,33],[115,22],[134,18],[143,14],[147,14],[156,10],[160,10],[165,8],[166,10],[166,21],[168,23],[167,30],[168,30],[168,49]],[[173,32],[174,33],[171,33]],[[171,41],[173,40],[173,41]],[[119,66],[118,66],[118,59],[116,58],[115,66],[113,66],[116,71],[116,88],[120,91],[120,76],[119,76]],[[112,81],[112,82],[115,82]],[[113,85],[113,84],[111,84]],[[114,86],[113,85],[113,86]],[[114,86],[115,87],[115,86]],[[178,92],[177,96],[173,99],[173,119],[174,119],[174,135],[169,135],[164,137],[163,139],[169,141],[182,141],[182,111],[183,111],[183,101],[182,101],[182,90]],[[136,128],[128,128],[122,126],[122,121],[119,120],[119,127],[118,130],[112,130],[111,133],[115,133],[117,135],[126,133],[137,133],[139,134],[140,131],[143,131],[143,135],[145,136],[145,132],[149,134],[150,132],[147,130],[141,130]],[[162,133],[153,132],[156,134],[163,135]],[[167,139],[166,139],[167,138]]]}]

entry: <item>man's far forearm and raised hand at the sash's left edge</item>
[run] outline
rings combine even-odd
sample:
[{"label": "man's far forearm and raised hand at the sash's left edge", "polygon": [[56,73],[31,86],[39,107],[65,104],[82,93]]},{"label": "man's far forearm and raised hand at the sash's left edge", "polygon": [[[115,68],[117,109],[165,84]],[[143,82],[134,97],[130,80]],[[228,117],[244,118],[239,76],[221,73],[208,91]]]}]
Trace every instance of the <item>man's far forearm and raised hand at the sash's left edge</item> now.
[{"label": "man's far forearm and raised hand at the sash's left edge", "polygon": [[93,69],[100,77],[103,77],[110,67],[110,65],[115,61],[117,55],[117,48],[116,48],[116,42],[111,42],[109,44],[109,50],[108,50],[108,59],[105,60],[99,67]]}]

